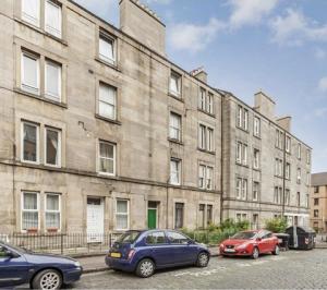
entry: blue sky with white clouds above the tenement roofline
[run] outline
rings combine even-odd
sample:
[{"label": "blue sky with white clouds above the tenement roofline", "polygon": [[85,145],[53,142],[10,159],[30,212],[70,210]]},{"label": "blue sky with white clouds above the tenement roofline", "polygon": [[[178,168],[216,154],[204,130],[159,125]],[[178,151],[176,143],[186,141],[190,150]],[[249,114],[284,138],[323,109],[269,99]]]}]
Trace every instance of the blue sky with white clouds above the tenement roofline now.
[{"label": "blue sky with white clouds above the tenement roofline", "polygon": [[[76,0],[119,27],[119,0]],[[262,89],[327,171],[326,0],[141,0],[167,25],[167,56],[253,106]]]}]

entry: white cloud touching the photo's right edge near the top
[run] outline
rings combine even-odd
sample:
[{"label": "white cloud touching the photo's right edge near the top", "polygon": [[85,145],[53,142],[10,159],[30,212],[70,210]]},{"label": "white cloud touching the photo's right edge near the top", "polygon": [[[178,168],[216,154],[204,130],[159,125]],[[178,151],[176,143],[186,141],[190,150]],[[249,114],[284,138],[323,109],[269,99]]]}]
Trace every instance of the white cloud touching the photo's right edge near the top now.
[{"label": "white cloud touching the photo's right edge near the top", "polygon": [[284,16],[270,22],[272,41],[280,45],[300,46],[305,40],[327,41],[327,24],[319,25],[302,12],[288,9]]}]

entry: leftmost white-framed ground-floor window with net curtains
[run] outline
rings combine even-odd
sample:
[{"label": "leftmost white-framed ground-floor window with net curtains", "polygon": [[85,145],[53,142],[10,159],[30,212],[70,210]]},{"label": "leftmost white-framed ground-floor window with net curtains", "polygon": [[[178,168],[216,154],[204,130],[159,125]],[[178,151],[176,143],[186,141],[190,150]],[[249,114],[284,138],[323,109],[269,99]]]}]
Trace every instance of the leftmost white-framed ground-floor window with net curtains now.
[{"label": "leftmost white-framed ground-floor window with net curtains", "polygon": [[22,230],[37,231],[39,228],[38,193],[23,192],[22,195]]}]

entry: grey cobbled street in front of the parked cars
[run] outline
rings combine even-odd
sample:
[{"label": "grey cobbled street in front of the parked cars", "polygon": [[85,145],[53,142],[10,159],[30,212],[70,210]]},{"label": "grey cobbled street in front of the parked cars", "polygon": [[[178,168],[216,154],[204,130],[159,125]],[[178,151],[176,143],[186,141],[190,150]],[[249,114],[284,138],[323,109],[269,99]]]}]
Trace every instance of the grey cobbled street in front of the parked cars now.
[{"label": "grey cobbled street in front of the parked cars", "polygon": [[281,252],[279,256],[265,255],[257,261],[213,257],[207,268],[183,267],[160,270],[148,279],[113,270],[87,274],[72,287],[80,289],[326,289],[326,250]]}]

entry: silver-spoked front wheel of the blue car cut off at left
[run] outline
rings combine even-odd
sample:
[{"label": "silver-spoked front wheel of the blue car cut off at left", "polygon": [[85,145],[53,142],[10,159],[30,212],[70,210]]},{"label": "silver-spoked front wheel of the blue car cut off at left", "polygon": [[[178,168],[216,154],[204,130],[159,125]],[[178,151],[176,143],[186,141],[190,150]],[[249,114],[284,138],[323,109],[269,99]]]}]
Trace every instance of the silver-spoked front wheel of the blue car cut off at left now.
[{"label": "silver-spoked front wheel of the blue car cut off at left", "polygon": [[57,290],[61,289],[62,277],[58,270],[45,269],[34,277],[31,285],[33,289]]}]

